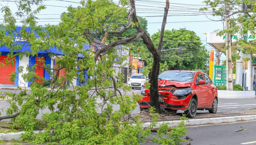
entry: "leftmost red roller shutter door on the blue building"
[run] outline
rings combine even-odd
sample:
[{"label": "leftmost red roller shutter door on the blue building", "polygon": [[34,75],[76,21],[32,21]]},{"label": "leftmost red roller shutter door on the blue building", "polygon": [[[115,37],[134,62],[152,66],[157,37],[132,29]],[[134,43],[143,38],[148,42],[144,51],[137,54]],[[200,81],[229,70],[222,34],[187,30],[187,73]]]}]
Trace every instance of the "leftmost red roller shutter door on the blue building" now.
[{"label": "leftmost red roller shutter door on the blue building", "polygon": [[14,82],[9,81],[10,74],[15,71],[15,61],[14,61],[14,66],[12,67],[11,64],[9,64],[8,68],[5,66],[5,58],[7,56],[5,55],[0,55],[0,62],[4,64],[3,67],[0,67],[0,84],[13,84]]}]

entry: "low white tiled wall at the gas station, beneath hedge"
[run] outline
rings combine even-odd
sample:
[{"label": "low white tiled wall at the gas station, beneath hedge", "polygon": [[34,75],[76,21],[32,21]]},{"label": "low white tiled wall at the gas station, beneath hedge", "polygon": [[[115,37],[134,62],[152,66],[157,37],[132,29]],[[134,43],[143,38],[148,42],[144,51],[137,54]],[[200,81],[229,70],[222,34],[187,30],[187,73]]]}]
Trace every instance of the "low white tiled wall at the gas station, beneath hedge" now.
[{"label": "low white tiled wall at the gas station, beneath hedge", "polygon": [[224,99],[255,98],[255,91],[224,91],[224,90],[218,90],[218,98],[224,98]]}]

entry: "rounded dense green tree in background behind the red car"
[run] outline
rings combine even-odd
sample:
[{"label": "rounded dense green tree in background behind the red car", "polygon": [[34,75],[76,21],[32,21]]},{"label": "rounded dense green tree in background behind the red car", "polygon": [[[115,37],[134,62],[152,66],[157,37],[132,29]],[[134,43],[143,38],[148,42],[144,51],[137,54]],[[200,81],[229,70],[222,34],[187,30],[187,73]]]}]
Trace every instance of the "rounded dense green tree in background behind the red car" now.
[{"label": "rounded dense green tree in background behind the red car", "polygon": [[[160,31],[152,35],[154,43],[159,42]],[[163,50],[183,46],[183,52],[177,49],[161,51],[161,63],[167,62],[169,70],[199,70],[209,63],[209,54],[195,32],[186,29],[165,30]]]}]

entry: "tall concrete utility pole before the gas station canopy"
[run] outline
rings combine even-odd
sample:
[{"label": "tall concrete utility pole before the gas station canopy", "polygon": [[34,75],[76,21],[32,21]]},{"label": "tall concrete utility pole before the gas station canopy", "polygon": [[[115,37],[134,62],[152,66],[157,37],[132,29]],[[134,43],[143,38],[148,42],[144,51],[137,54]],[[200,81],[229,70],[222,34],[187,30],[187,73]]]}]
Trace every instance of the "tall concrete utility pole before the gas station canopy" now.
[{"label": "tall concrete utility pole before the gas station canopy", "polygon": [[[226,5],[226,30],[229,29],[229,5]],[[233,71],[230,66],[232,61],[231,45],[230,45],[230,34],[226,33],[226,71],[227,71],[227,90],[233,91]]]}]

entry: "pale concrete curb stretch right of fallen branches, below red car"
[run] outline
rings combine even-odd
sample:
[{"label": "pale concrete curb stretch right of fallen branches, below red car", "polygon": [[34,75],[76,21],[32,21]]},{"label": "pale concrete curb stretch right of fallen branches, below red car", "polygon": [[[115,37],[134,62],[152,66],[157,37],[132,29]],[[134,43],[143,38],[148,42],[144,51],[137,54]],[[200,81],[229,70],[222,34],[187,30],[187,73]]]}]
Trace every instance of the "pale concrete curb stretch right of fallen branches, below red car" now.
[{"label": "pale concrete curb stretch right of fallen branches, below red car", "polygon": [[[185,125],[204,125],[207,123],[218,124],[222,122],[236,122],[239,120],[255,120],[256,115],[244,115],[244,116],[231,116],[231,117],[218,117],[218,118],[202,118],[202,119],[189,119],[189,122],[185,122]],[[175,127],[181,122],[180,120],[158,122],[154,128],[160,127],[163,123],[168,123],[168,127]],[[142,127],[149,127],[150,122],[146,122]]]}]

